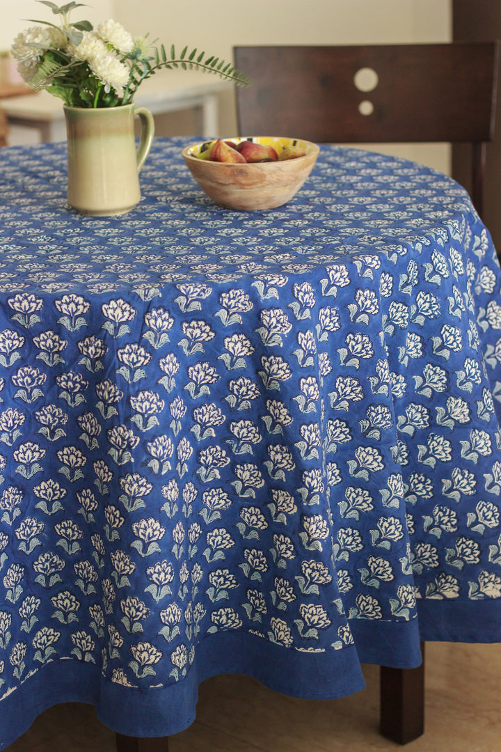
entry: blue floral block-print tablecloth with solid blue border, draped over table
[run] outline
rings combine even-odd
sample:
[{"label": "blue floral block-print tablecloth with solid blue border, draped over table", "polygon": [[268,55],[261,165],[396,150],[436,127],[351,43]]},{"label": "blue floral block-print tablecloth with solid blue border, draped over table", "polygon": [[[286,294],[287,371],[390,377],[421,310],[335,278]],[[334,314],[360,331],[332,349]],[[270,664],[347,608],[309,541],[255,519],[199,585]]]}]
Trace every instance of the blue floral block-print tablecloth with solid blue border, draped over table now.
[{"label": "blue floral block-print tablecloth with solid blue border, draped over table", "polygon": [[501,274],[463,189],[322,147],[218,208],[155,141],[122,217],[65,144],[0,151],[0,747],[56,702],[178,732],[501,638]]}]

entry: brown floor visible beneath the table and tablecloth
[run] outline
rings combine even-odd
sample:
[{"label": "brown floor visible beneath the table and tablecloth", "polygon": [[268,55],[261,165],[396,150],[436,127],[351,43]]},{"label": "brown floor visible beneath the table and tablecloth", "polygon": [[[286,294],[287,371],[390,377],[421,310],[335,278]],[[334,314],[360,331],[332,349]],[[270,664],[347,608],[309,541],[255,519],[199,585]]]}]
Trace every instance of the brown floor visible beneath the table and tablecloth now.
[{"label": "brown floor visible beneath the table and tablecloth", "polygon": [[[197,720],[170,752],[373,752],[397,750],[378,732],[379,669],[339,700],[285,697],[238,675],[201,686]],[[8,752],[113,752],[114,734],[89,705],[38,717]],[[406,752],[501,752],[501,644],[427,644],[426,730]]]}]

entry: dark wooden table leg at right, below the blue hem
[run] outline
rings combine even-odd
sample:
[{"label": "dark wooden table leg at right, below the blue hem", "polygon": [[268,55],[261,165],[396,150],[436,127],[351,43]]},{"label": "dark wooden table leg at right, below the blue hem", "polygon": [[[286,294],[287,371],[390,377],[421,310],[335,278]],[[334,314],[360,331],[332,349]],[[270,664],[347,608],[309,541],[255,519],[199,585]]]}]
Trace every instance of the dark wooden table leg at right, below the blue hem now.
[{"label": "dark wooden table leg at right, below the blue hem", "polygon": [[381,666],[379,730],[399,744],[424,732],[424,642],[421,654],[423,663],[417,669]]}]

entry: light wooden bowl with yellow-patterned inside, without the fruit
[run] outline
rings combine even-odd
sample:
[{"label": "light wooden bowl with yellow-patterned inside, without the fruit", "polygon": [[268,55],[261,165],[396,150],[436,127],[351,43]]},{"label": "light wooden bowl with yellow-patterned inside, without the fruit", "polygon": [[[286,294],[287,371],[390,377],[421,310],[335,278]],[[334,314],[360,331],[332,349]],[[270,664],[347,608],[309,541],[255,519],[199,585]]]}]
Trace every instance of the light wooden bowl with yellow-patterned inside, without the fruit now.
[{"label": "light wooden bowl with yellow-patterned inside, without the fruit", "polygon": [[219,206],[239,211],[273,209],[290,201],[312,171],[319,152],[317,144],[300,138],[252,136],[225,140],[234,144],[242,141],[268,144],[278,155],[284,147],[290,146],[300,147],[305,152],[305,156],[295,159],[235,164],[200,159],[198,155],[207,150],[210,141],[185,147],[184,161],[204,193]]}]

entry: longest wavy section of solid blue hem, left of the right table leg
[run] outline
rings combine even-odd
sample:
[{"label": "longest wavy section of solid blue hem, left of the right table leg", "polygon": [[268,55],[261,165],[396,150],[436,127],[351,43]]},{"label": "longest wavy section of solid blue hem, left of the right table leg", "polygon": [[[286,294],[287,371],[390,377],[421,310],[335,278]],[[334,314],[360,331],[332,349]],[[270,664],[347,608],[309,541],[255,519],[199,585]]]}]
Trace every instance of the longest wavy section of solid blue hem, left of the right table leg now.
[{"label": "longest wavy section of solid blue hem, left of the right table leg", "polygon": [[354,646],[303,653],[254,635],[221,632],[198,644],[186,678],[169,687],[122,687],[95,664],[77,660],[45,664],[0,703],[0,749],[61,702],[95,705],[102,723],[126,736],[177,734],[195,720],[199,684],[227,673],[252,676],[271,690],[306,699],[344,697],[365,687]]}]

